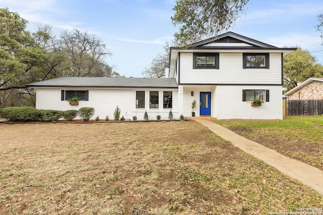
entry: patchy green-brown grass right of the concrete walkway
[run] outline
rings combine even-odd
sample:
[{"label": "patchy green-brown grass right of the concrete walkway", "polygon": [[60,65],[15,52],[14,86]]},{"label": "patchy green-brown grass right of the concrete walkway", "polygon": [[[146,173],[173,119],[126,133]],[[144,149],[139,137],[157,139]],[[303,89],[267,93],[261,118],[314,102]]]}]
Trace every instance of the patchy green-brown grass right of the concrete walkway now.
[{"label": "patchy green-brown grass right of the concrete walkway", "polygon": [[323,170],[323,116],[214,122],[283,155]]}]

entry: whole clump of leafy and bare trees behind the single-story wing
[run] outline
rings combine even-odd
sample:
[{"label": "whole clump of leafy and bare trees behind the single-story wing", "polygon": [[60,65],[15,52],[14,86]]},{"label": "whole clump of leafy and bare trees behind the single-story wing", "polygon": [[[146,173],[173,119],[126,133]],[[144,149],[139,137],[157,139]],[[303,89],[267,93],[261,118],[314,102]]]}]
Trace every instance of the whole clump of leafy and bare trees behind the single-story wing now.
[{"label": "whole clump of leafy and bare trees behind the single-story wing", "polygon": [[104,62],[111,52],[95,35],[74,30],[57,38],[49,25],[26,30],[18,13],[0,9],[0,108],[35,105],[26,84],[61,76],[120,77]]}]

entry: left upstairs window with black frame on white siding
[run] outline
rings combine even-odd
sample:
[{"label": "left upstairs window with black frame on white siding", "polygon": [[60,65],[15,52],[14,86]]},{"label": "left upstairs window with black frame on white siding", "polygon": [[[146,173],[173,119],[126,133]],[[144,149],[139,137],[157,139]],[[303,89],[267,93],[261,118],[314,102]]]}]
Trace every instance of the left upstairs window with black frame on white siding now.
[{"label": "left upstairs window with black frame on white siding", "polygon": [[194,53],[193,68],[219,69],[219,53]]}]

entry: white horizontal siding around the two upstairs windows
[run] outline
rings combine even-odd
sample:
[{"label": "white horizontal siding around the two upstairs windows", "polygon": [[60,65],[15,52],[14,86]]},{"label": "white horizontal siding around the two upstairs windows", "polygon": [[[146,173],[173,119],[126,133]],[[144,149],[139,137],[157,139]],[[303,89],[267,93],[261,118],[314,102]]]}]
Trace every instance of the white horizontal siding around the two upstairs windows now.
[{"label": "white horizontal siding around the two upstairs windows", "polygon": [[282,55],[270,53],[270,68],[243,68],[242,53],[220,53],[219,69],[193,69],[193,53],[181,53],[181,84],[282,84]]}]

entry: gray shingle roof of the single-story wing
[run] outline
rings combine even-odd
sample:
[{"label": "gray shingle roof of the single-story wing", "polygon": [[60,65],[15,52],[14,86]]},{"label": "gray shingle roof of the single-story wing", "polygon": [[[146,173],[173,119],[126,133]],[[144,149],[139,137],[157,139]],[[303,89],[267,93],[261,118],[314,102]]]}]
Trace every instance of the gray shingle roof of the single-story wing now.
[{"label": "gray shingle roof of the single-story wing", "polygon": [[26,87],[177,88],[177,83],[175,79],[167,78],[60,77]]}]

